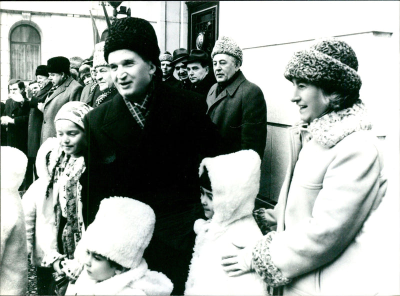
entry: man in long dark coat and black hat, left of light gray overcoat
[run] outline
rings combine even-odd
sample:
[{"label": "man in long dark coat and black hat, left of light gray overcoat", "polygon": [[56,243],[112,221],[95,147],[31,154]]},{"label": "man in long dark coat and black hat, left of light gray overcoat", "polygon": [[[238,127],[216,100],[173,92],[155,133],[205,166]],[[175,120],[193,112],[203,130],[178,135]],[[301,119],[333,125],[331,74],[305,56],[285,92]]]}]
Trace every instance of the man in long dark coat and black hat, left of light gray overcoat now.
[{"label": "man in long dark coat and black hat, left of light gray overcoat", "polygon": [[35,70],[36,80],[39,84],[40,90],[35,93],[29,102],[29,119],[28,119],[28,167],[26,169],[26,184],[29,186],[33,181],[33,173],[37,178],[35,169],[36,154],[40,147],[40,134],[41,124],[43,122],[43,113],[37,109],[38,103],[43,103],[47,92],[51,89],[53,84],[48,79],[48,72],[46,65],[38,65]]}]

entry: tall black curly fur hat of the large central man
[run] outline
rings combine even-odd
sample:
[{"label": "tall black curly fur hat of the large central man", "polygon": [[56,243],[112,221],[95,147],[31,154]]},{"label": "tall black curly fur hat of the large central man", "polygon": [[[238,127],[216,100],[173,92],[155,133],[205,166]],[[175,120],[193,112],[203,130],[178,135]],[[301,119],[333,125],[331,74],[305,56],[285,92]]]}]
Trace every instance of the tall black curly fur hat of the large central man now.
[{"label": "tall black curly fur hat of the large central man", "polygon": [[104,59],[108,62],[109,53],[119,49],[132,50],[160,66],[157,36],[153,26],[145,19],[123,17],[111,24],[104,44]]}]

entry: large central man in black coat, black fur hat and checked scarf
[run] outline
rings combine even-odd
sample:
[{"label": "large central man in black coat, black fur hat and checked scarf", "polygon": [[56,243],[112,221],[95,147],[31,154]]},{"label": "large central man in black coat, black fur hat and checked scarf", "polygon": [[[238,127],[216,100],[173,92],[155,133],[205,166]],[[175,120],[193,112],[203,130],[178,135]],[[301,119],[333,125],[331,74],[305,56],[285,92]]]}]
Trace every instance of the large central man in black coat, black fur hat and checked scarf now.
[{"label": "large central man in black coat, black fur hat and checked scarf", "polygon": [[148,267],[182,294],[201,217],[199,161],[217,155],[220,136],[194,93],[161,81],[151,24],[124,17],[111,25],[104,58],[119,95],[84,117],[88,151],[82,184],[83,219],[93,221],[104,197],[127,196],[152,207]]}]

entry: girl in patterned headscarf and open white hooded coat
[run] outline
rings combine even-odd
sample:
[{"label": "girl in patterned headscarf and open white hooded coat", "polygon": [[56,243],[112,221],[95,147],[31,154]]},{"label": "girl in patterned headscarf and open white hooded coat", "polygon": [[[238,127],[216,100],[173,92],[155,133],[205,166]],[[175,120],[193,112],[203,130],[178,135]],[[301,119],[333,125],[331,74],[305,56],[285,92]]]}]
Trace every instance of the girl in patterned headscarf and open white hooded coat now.
[{"label": "girl in patterned headscarf and open white hooded coat", "polygon": [[[60,108],[54,119],[56,138],[48,138],[40,146],[36,160],[39,178],[22,199],[28,252],[32,264],[47,270],[43,272],[47,276],[54,268],[56,276],[75,279],[81,268],[72,259],[84,231],[79,178],[85,169],[83,116],[91,109],[79,101]],[[48,287],[50,280],[43,279],[40,284]]]}]

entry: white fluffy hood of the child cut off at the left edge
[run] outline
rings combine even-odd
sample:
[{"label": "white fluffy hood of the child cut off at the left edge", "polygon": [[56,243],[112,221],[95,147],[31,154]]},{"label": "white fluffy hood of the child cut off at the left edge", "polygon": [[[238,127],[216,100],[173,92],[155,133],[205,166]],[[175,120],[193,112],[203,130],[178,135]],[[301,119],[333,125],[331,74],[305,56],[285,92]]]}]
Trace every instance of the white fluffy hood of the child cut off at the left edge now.
[{"label": "white fluffy hood of the child cut off at the left edge", "polygon": [[22,184],[27,162],[28,159],[21,150],[10,146],[1,146],[1,188],[17,189]]}]

